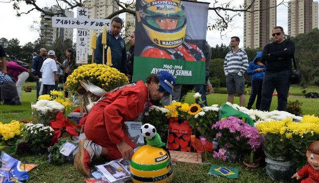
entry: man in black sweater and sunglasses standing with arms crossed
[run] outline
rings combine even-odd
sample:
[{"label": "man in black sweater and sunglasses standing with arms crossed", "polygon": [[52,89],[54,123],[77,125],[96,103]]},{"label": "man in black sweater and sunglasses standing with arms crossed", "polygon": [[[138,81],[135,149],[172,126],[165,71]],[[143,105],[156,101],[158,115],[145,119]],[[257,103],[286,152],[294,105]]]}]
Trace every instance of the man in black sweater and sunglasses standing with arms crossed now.
[{"label": "man in black sweater and sunglasses standing with arms crossed", "polygon": [[266,73],[263,81],[261,111],[269,111],[274,89],[278,94],[279,111],[287,110],[287,95],[289,92],[289,76],[292,69],[292,56],[295,53],[295,43],[283,38],[281,26],[273,28],[274,42],[268,43],[262,54],[266,62]]}]

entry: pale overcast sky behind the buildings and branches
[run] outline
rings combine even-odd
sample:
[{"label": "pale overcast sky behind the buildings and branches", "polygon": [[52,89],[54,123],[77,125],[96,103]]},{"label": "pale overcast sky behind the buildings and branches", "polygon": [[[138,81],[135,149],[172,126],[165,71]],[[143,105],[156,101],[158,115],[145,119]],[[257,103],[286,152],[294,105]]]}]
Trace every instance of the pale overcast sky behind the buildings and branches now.
[{"label": "pale overcast sky behind the buildings and branches", "polygon": [[[8,0],[7,0],[8,1]],[[211,0],[199,0],[203,2],[211,2]],[[278,2],[281,0],[277,0]],[[318,1],[318,0],[314,0]],[[244,0],[236,0],[232,5],[243,4]],[[287,2],[287,0],[285,0]],[[41,0],[37,1],[39,7],[44,6],[52,6],[55,4],[55,1],[51,0]],[[24,4],[24,2],[22,3]],[[20,41],[20,45],[24,45],[28,42],[34,42],[39,38],[39,33],[35,30],[32,30],[30,27],[32,25],[39,26],[38,24],[33,23],[33,21],[40,22],[40,13],[37,11],[33,11],[30,14],[22,15],[21,17],[16,17],[16,12],[13,10],[12,4],[9,3],[0,3],[1,7],[1,31],[0,38],[6,38],[8,40],[17,38]],[[25,10],[26,5],[21,7],[21,10]],[[210,7],[213,7],[211,4]],[[125,15],[120,15],[121,18],[125,18]],[[214,12],[212,10],[209,11],[209,21],[210,18],[214,17]],[[215,47],[217,44],[221,43],[228,45],[230,41],[230,37],[238,36],[241,40],[243,40],[243,14],[241,16],[237,16],[235,20],[232,22],[233,27],[228,28],[225,32],[220,36],[220,32],[218,31],[208,31],[207,32],[207,41],[212,46]],[[285,6],[279,6],[277,8],[277,25],[282,26],[284,28],[284,32],[287,32],[287,8]],[[75,40],[75,39],[73,39]],[[243,42],[240,42],[240,47],[243,47]]]}]

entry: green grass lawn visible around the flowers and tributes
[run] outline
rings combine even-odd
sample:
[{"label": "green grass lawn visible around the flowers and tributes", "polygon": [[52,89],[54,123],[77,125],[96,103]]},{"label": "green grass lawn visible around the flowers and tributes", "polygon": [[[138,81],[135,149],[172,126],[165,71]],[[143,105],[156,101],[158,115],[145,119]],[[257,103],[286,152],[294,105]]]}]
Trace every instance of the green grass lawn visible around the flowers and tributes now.
[{"label": "green grass lawn visible around the flowers and tributes", "polygon": [[[25,83],[25,85],[35,85],[35,83]],[[295,88],[296,87],[296,88]],[[291,89],[290,94],[294,96],[297,92],[302,95],[300,87],[295,86]],[[309,87],[313,89],[311,92],[319,92],[319,88]],[[193,94],[189,93],[186,97],[187,103],[193,103]],[[249,96],[246,96],[246,104],[248,102]],[[318,115],[318,101],[319,99],[305,99],[303,97],[288,97],[289,101],[299,100],[303,103],[302,110],[304,114],[315,114]],[[31,102],[36,101],[36,90],[31,93],[26,93],[22,91],[22,105],[21,106],[11,106],[11,105],[0,105],[0,121],[7,123],[11,120],[30,120],[32,116]],[[218,104],[221,105],[227,101],[226,94],[211,94],[208,96],[208,104]],[[239,103],[239,98],[235,97],[235,103]],[[277,106],[277,97],[273,97],[273,103],[271,105],[271,110],[275,110]],[[69,113],[67,111],[67,113]],[[27,182],[83,182],[86,178],[85,176],[78,173],[74,167],[73,163],[66,163],[63,165],[51,165],[48,163],[48,154],[42,156],[34,156],[29,154],[22,154],[17,152],[17,155],[13,157],[20,160],[22,163],[34,163],[38,167],[29,172],[30,178]],[[204,164],[188,164],[188,163],[178,163],[173,166],[175,171],[173,175],[172,182],[274,182],[267,174],[265,169],[265,163],[262,164],[257,169],[248,169],[243,166],[242,162],[230,163],[228,161],[224,162],[222,160],[215,160],[212,158],[212,153],[203,154]],[[105,159],[98,159],[95,161],[91,169],[94,169],[94,165],[99,165],[104,163]],[[225,177],[215,177],[209,175],[208,171],[211,164],[225,165],[229,167],[239,168],[239,176],[237,179],[225,178]],[[131,181],[128,181],[131,182]],[[278,181],[276,181],[278,182]],[[294,182],[297,182],[296,180]]]}]

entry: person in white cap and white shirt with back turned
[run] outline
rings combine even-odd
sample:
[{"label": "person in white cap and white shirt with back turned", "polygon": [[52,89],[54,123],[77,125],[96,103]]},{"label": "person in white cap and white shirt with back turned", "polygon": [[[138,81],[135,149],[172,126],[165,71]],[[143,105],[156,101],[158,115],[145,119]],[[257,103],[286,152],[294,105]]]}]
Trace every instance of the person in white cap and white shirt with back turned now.
[{"label": "person in white cap and white shirt with back turned", "polygon": [[55,81],[57,81],[56,64],[54,60],[55,52],[48,51],[48,58],[44,60],[40,72],[42,74],[43,90],[40,95],[50,95],[51,90],[54,89]]}]

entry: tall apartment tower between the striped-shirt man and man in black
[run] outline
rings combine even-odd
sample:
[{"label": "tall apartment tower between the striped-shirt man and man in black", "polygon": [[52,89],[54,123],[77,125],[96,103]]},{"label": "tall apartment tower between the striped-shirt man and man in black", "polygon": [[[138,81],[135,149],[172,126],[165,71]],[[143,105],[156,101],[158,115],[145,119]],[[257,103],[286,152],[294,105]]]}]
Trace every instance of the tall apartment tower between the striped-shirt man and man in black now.
[{"label": "tall apartment tower between the striped-shirt man and man in black", "polygon": [[[251,5],[253,0],[245,0],[244,6]],[[272,38],[272,29],[276,26],[276,0],[256,0],[250,11],[244,12],[244,48],[263,48]],[[239,35],[240,36],[240,35]]]}]

